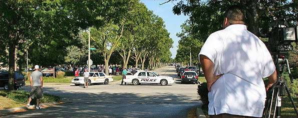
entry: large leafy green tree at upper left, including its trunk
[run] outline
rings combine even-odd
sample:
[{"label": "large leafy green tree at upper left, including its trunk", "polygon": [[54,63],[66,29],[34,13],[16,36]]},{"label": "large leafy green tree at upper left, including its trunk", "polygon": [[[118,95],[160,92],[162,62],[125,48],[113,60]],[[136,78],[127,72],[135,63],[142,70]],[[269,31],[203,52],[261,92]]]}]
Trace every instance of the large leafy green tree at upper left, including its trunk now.
[{"label": "large leafy green tree at upper left, including its trunk", "polygon": [[[100,27],[110,19],[117,21],[117,17],[126,12],[125,4],[128,2],[0,1],[0,37],[9,47],[9,89],[14,89],[15,51],[21,40],[28,39],[29,46],[33,47],[30,49],[34,51],[32,60],[37,60],[36,64],[47,61],[52,54],[61,54],[62,57],[56,57],[64,58],[67,45],[71,44],[80,29]],[[47,55],[47,49],[55,51],[53,48],[59,47],[62,47],[62,52],[56,51]],[[43,60],[39,53],[46,55]]]}]

